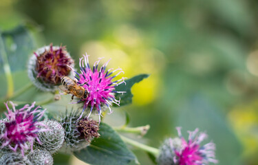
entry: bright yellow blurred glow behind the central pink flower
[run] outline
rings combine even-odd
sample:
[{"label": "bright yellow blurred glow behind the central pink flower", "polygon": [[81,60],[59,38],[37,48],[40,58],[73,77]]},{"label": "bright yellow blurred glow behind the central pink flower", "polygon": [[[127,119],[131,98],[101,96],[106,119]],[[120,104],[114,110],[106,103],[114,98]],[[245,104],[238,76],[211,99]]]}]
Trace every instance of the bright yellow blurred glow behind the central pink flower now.
[{"label": "bright yellow blurred glow behind the central pink flower", "polygon": [[120,67],[125,72],[116,79],[150,74],[149,78],[136,83],[132,88],[133,104],[138,106],[150,104],[157,98],[165,61],[164,54],[149,47],[142,38],[141,32],[132,25],[120,25],[109,36],[100,41],[87,41],[80,49],[81,54],[87,52],[90,55],[91,65],[100,57],[105,57],[102,63],[111,58],[108,68]]}]

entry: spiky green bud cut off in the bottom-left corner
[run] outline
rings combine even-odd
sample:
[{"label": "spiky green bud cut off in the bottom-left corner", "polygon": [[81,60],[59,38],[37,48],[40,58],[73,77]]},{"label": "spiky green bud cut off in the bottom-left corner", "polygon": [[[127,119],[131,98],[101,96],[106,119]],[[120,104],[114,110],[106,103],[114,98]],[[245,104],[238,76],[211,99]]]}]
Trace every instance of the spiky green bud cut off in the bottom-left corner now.
[{"label": "spiky green bud cut off in the bottom-left corner", "polygon": [[0,165],[32,165],[28,157],[20,153],[5,153],[0,158]]}]

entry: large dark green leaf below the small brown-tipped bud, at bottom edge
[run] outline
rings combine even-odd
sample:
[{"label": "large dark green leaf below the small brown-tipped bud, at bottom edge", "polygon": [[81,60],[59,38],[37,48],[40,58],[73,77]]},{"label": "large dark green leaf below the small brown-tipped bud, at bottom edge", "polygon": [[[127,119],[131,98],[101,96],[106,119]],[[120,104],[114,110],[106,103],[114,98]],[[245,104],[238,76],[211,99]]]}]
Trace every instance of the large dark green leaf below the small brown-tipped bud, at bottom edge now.
[{"label": "large dark green leaf below the small brown-tipped bud, at bottom edge", "polygon": [[93,165],[123,165],[138,162],[136,156],[110,126],[101,122],[99,133],[100,137],[90,146],[74,152],[78,159]]}]

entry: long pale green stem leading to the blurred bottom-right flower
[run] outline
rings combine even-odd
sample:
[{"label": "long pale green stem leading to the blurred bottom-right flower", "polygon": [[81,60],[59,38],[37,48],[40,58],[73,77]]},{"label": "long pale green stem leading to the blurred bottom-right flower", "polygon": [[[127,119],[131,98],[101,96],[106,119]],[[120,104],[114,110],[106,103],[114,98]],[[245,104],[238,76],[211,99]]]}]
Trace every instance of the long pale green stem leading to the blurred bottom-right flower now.
[{"label": "long pale green stem leading to the blurred bottom-right flower", "polygon": [[130,144],[131,146],[135,146],[137,148],[140,148],[142,149],[143,151],[147,151],[148,153],[151,153],[153,155],[155,155],[155,157],[158,157],[158,154],[159,154],[159,150],[158,148],[153,148],[151,146],[147,146],[145,144],[142,144],[142,143],[139,143],[139,142],[136,142],[134,140],[131,140],[125,136],[122,136],[120,135],[120,137],[122,138],[122,140],[124,142],[126,142],[127,144]]}]

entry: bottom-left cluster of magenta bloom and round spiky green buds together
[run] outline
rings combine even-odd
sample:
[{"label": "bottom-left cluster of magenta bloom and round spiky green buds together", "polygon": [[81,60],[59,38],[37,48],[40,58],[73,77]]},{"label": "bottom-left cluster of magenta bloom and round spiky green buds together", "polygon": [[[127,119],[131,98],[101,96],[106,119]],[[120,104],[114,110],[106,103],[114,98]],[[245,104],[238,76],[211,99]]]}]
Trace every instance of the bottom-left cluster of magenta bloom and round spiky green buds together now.
[{"label": "bottom-left cluster of magenta bloom and round spiky green buds together", "polygon": [[53,164],[52,154],[63,145],[63,126],[54,120],[39,121],[45,110],[35,108],[35,102],[20,109],[9,103],[12,108],[7,102],[8,113],[0,120],[0,165]]}]

